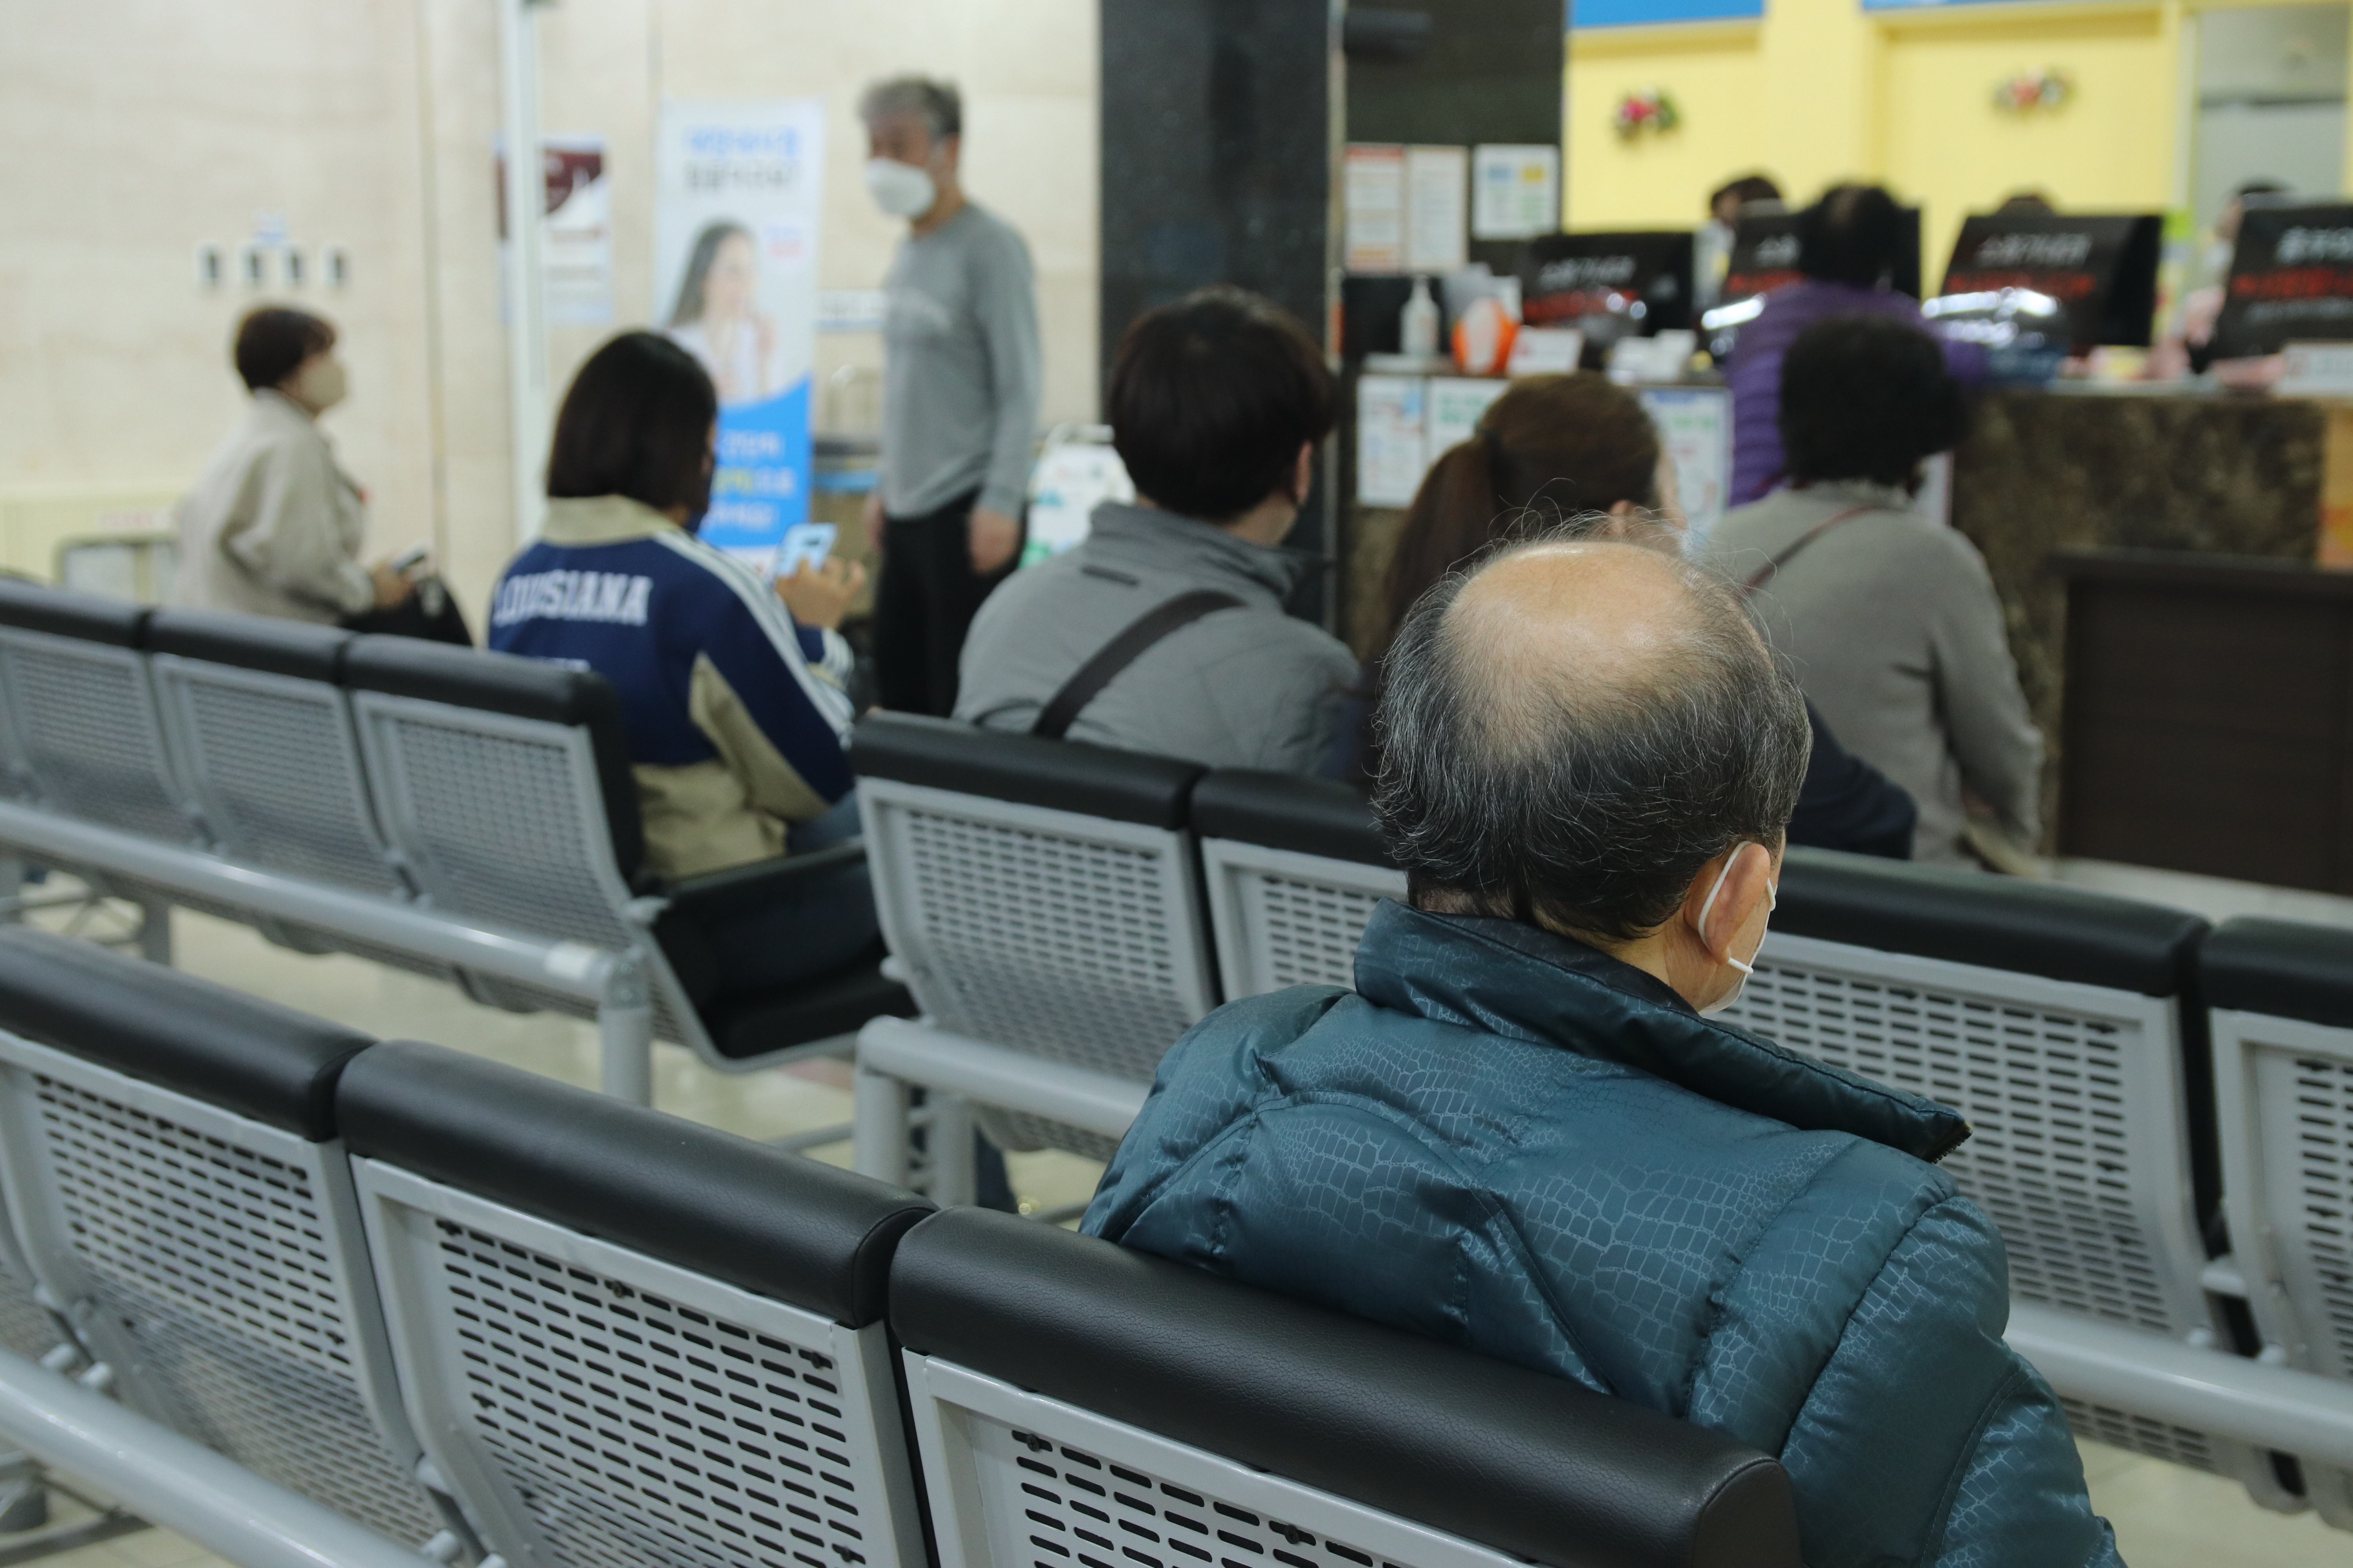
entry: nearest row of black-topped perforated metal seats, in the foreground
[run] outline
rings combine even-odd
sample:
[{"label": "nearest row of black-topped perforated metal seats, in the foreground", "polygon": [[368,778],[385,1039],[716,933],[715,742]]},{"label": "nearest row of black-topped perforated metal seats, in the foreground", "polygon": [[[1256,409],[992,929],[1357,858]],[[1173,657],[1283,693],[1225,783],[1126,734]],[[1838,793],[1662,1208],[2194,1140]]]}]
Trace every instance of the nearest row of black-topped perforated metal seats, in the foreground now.
[{"label": "nearest row of black-topped perforated metal seats, in the foreground", "polygon": [[1798,1563],[1699,1427],[26,929],[0,1173],[127,1406],[0,1434],[254,1568]]}]

